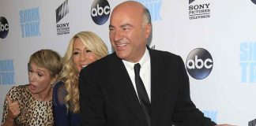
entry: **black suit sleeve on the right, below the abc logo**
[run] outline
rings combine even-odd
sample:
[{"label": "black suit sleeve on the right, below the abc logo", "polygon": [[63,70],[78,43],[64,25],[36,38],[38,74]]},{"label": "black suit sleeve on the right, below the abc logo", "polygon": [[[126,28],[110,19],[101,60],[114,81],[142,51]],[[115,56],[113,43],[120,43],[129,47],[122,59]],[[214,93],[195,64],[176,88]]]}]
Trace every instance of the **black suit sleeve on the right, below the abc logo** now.
[{"label": "black suit sleeve on the right, below the abc logo", "polygon": [[204,117],[199,109],[194,106],[190,98],[190,83],[186,74],[183,59],[178,57],[179,96],[175,105],[174,123],[179,126],[213,126],[216,125],[208,117]]}]

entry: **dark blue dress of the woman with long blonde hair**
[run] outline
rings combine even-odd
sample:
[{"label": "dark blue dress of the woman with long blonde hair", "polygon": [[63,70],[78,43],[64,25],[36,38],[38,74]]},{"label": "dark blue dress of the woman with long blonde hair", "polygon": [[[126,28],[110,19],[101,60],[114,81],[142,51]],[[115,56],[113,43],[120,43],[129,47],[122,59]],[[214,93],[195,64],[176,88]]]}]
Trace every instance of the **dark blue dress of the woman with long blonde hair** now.
[{"label": "dark blue dress of the woman with long blonde hair", "polygon": [[67,110],[64,98],[67,94],[65,83],[55,84],[52,98],[52,109],[55,126],[80,126],[80,114]]}]

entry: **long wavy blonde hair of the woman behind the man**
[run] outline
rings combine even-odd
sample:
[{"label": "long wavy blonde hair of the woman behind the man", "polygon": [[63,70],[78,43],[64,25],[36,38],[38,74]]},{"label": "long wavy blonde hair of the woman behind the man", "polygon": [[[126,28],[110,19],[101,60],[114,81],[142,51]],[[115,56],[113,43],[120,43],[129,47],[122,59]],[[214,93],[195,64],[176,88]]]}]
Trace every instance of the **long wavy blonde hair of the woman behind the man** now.
[{"label": "long wavy blonde hair of the woman behind the man", "polygon": [[63,69],[59,77],[65,82],[67,95],[64,99],[67,108],[73,113],[79,113],[79,90],[78,90],[78,70],[73,64],[73,43],[75,39],[81,39],[81,42],[91,50],[96,59],[100,59],[107,55],[107,46],[98,35],[92,31],[81,31],[70,39],[70,44],[66,50],[65,56],[62,58]]}]

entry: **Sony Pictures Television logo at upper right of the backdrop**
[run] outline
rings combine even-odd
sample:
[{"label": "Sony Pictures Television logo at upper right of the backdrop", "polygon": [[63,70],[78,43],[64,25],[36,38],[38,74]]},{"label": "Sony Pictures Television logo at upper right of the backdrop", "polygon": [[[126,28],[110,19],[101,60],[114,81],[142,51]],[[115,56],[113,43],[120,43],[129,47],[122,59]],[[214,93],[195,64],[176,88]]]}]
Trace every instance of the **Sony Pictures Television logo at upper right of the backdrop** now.
[{"label": "Sony Pictures Television logo at upper right of the backdrop", "polygon": [[195,19],[204,19],[209,18],[211,9],[210,9],[210,3],[205,4],[192,4],[195,0],[189,0],[189,7],[188,7],[188,13],[189,13],[189,19],[195,20]]}]

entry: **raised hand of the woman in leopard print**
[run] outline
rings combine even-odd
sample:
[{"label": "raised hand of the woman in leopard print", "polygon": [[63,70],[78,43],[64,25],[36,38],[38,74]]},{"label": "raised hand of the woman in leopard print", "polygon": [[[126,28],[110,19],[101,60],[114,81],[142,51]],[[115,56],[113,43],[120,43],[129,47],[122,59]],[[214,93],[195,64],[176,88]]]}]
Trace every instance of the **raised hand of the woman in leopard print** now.
[{"label": "raised hand of the woman in leopard print", "polygon": [[7,118],[9,118],[9,120],[14,120],[21,113],[19,102],[12,102],[9,96],[6,96],[6,101],[8,104]]}]

